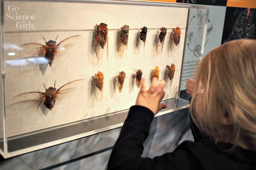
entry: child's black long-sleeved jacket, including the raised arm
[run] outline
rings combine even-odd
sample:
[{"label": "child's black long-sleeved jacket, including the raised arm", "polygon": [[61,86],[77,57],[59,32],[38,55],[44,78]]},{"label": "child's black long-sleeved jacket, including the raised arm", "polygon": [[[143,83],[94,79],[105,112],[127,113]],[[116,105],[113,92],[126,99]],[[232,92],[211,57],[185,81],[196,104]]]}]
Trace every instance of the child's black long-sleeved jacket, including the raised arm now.
[{"label": "child's black long-sleeved jacket, including the raised arm", "polygon": [[[204,134],[191,122],[195,141],[182,142],[172,153],[142,158],[143,142],[148,136],[154,114],[143,106],[132,106],[113,147],[108,170],[256,170],[256,152],[233,147]],[[195,129],[194,129],[195,128]]]}]

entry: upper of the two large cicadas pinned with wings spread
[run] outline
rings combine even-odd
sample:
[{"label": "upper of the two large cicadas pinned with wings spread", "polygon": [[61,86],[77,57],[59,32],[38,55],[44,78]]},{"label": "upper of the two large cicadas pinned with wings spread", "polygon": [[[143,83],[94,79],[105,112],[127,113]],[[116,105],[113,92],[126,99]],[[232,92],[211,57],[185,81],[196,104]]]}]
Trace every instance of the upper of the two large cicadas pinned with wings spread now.
[{"label": "upper of the two large cicadas pinned with wings spread", "polygon": [[[44,38],[44,37],[43,37]],[[46,45],[38,44],[38,43],[26,43],[21,45],[21,47],[27,53],[33,55],[39,55],[38,57],[44,57],[48,60],[50,66],[52,66],[52,62],[55,58],[56,54],[63,55],[67,52],[69,48],[71,48],[80,38],[80,35],[75,35],[72,37],[68,37],[57,44],[57,38],[55,41],[49,40],[48,42],[44,39]]]}]

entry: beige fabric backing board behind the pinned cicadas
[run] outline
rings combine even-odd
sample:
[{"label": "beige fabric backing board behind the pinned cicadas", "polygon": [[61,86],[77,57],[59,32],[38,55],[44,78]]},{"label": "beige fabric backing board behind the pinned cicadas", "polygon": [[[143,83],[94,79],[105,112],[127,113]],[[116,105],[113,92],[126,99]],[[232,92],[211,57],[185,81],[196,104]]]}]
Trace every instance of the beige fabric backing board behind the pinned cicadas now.
[{"label": "beige fabric backing board behind the pinned cicadas", "polygon": [[[19,11],[9,11],[12,5]],[[16,136],[48,127],[76,122],[116,111],[122,111],[135,104],[139,92],[132,74],[135,70],[143,71],[143,77],[150,85],[151,71],[158,65],[160,79],[164,78],[166,65],[175,64],[176,70],[172,83],[165,89],[164,99],[175,98],[178,95],[180,71],[183,58],[183,45],[187,23],[187,8],[159,7],[159,6],[131,6],[98,3],[63,3],[63,2],[23,2],[7,1],[4,3],[6,15],[34,15],[30,20],[34,28],[16,28],[17,20],[4,22],[5,61],[24,57],[32,57],[26,51],[19,50],[24,43],[35,42],[45,44],[55,40],[57,43],[73,35],[81,35],[76,44],[67,53],[56,55],[50,67],[32,69],[31,67],[13,68],[6,65],[5,69],[5,99],[7,135]],[[25,23],[29,21],[26,20]],[[108,24],[108,55],[107,50],[101,60],[95,54],[95,26]],[[117,41],[120,27],[129,25],[128,48],[122,57],[117,53]],[[140,28],[146,26],[148,34],[145,47],[136,49],[136,40]],[[171,50],[171,35],[173,28],[181,28],[180,45]],[[162,54],[156,54],[156,41],[159,28],[168,28]],[[16,48],[11,48],[16,46]],[[107,48],[105,46],[105,48]],[[15,52],[15,56],[8,53]],[[98,102],[94,95],[94,74],[101,71],[104,74],[103,99]],[[126,77],[122,92],[116,85],[118,71],[125,71]],[[56,88],[76,79],[84,81],[76,84],[76,90],[58,99],[52,111],[39,108],[24,102],[20,108],[8,107],[16,101],[13,99],[22,93],[31,91],[45,92],[46,88]],[[43,85],[44,83],[44,85]],[[13,106],[13,105],[12,105]]]}]

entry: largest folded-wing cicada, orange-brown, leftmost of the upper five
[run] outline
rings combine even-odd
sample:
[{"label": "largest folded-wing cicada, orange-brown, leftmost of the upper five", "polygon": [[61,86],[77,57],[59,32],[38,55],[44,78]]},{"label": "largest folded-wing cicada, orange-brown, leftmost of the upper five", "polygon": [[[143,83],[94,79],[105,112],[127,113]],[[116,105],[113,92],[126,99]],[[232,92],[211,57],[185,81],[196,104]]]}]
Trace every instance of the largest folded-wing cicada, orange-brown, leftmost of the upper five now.
[{"label": "largest folded-wing cicada, orange-brown, leftmost of the upper five", "polygon": [[108,25],[100,23],[99,26],[96,24],[96,43],[95,51],[98,59],[102,59],[104,53],[104,46],[107,44],[108,48]]}]

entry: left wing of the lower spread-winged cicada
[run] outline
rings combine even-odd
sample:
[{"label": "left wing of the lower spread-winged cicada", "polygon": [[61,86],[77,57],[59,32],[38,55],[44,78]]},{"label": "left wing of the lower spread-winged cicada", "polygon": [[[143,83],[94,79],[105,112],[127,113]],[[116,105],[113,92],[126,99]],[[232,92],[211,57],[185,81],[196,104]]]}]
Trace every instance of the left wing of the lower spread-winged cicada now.
[{"label": "left wing of the lower spread-winged cicada", "polygon": [[41,92],[28,92],[14,97],[15,103],[6,108],[18,111],[35,112],[44,104],[46,97]]}]

